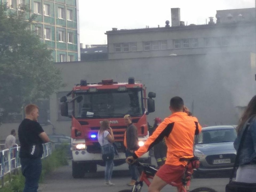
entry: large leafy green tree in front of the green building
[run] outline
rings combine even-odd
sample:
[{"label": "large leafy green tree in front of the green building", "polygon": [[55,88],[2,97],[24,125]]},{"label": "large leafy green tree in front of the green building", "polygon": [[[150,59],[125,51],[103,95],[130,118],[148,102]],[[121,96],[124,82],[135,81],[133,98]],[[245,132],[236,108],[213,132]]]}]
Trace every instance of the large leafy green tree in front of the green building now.
[{"label": "large leafy green tree in front of the green building", "polygon": [[52,50],[31,31],[35,17],[26,6],[10,11],[0,3],[0,123],[9,112],[49,98],[61,84]]}]

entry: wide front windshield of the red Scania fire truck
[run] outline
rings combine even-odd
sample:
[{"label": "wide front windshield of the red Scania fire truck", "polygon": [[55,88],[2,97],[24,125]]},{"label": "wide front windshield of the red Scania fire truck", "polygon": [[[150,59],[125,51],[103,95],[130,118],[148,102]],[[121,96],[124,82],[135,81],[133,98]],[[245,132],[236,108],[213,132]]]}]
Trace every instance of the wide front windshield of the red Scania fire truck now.
[{"label": "wide front windshield of the red Scania fire truck", "polygon": [[83,99],[75,101],[75,118],[111,118],[125,114],[141,116],[144,113],[142,89],[130,88],[126,91],[97,90],[96,92],[75,93]]}]

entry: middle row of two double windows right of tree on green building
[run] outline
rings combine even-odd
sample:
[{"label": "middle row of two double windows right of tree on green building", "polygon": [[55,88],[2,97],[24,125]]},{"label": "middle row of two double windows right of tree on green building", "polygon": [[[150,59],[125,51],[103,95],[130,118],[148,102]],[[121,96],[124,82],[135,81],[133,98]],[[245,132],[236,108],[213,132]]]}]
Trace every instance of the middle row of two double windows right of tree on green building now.
[{"label": "middle row of two double windows right of tree on green building", "polygon": [[[43,28],[40,27],[40,26],[35,26],[35,32],[42,39],[42,37],[43,37]],[[68,32],[68,34],[66,36],[66,30],[64,29],[63,31],[59,30],[58,34],[59,35],[58,35],[57,41],[66,42],[66,38],[67,38],[68,43],[74,44],[74,33]],[[52,30],[50,28],[47,28],[47,27],[44,28],[44,39],[45,40],[52,40]]]}]

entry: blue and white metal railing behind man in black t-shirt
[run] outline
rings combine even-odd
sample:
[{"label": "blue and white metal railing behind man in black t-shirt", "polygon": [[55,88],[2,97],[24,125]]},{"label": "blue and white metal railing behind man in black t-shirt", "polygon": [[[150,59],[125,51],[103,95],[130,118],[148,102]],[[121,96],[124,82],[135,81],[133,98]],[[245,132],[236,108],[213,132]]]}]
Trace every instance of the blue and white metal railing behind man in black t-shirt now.
[{"label": "blue and white metal railing behind man in black t-shirt", "polygon": [[[2,147],[5,144],[0,144],[0,147]],[[17,144],[15,144],[17,145]],[[49,156],[52,153],[52,147],[51,142],[42,144],[44,148],[43,157],[45,158]],[[3,177],[11,171],[18,169],[21,167],[20,165],[20,158],[19,158],[19,150],[20,147],[17,145],[17,147],[13,147],[10,149],[4,149],[0,151],[0,180],[3,181]],[[3,185],[3,183],[2,183]]]}]

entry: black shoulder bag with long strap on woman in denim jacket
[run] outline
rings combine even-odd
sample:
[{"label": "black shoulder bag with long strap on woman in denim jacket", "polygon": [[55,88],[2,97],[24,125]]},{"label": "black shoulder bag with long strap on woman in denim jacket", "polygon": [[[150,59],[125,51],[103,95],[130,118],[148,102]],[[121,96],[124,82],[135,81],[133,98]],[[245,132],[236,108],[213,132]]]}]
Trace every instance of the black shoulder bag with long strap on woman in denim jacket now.
[{"label": "black shoulder bag with long strap on woman in denim jacket", "polygon": [[248,127],[251,124],[251,121],[254,119],[255,116],[251,117],[247,123],[245,123],[244,126],[244,132],[242,133],[242,138],[236,153],[236,159],[233,167],[232,174],[229,179],[229,184],[226,185],[226,192],[256,192],[256,183],[244,183],[244,182],[237,182],[237,181],[232,181],[236,167],[238,166],[238,161],[239,161],[239,155],[242,150],[243,142],[245,140],[245,135],[247,133]]}]

